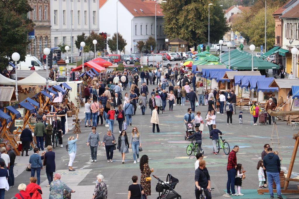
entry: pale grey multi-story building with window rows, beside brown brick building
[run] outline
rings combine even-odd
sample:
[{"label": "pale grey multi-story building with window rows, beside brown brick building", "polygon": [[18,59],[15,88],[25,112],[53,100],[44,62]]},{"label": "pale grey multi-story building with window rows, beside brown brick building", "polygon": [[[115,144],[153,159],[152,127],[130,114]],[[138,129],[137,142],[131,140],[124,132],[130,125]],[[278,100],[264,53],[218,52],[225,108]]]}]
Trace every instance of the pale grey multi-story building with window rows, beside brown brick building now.
[{"label": "pale grey multi-story building with window rows, beside brown brick building", "polygon": [[75,40],[82,33],[86,38],[91,31],[99,33],[98,7],[99,0],[51,0],[51,47],[66,44],[70,47],[68,55],[73,61],[80,60]]}]

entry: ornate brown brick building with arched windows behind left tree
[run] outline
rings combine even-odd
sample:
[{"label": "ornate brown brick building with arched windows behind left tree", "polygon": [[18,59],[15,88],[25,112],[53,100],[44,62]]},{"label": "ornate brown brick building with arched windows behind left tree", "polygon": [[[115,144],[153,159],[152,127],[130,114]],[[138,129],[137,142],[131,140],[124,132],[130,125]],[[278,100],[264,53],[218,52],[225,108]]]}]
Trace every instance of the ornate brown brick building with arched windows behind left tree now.
[{"label": "ornate brown brick building with arched windows behind left tree", "polygon": [[28,18],[33,21],[34,38],[30,39],[28,54],[39,58],[43,49],[51,46],[50,3],[43,0],[28,0],[32,11],[28,12]]}]

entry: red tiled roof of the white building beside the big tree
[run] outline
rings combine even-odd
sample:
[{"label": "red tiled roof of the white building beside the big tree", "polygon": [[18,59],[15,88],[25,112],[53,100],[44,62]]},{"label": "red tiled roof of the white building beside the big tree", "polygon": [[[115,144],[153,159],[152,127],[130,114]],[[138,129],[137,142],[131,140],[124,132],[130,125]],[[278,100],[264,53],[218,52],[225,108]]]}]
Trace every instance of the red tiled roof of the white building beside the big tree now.
[{"label": "red tiled roof of the white building beside the big tree", "polygon": [[[135,17],[155,16],[155,1],[120,0],[120,3]],[[164,16],[160,4],[156,8],[156,16]]]}]

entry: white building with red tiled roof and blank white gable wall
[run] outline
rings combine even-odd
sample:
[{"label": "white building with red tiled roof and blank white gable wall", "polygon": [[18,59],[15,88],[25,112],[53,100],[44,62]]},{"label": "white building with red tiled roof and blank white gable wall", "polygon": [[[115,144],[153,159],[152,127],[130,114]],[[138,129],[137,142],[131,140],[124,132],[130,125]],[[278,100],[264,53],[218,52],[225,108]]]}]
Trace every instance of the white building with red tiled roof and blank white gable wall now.
[{"label": "white building with red tiled roof and blank white gable wall", "polygon": [[[110,14],[111,10],[114,12],[113,15]],[[157,36],[157,49],[165,48],[164,15],[160,4],[155,1],[120,0],[118,2],[118,0],[107,0],[100,7],[99,13],[100,32],[108,33],[107,39],[111,38],[117,30],[126,39],[127,45],[123,53],[138,52],[137,42],[145,42],[149,36],[155,38],[155,34]],[[157,18],[156,24],[155,16]],[[108,46],[107,49],[110,52]]]}]

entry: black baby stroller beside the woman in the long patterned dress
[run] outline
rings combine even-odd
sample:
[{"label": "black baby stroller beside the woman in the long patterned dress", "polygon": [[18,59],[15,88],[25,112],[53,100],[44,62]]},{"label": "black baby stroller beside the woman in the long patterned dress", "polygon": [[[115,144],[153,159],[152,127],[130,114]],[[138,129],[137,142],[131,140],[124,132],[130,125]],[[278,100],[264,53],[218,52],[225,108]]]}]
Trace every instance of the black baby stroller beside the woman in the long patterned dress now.
[{"label": "black baby stroller beside the woman in the long patterned dress", "polygon": [[[161,181],[157,176],[152,175],[159,182],[156,185],[156,192],[159,192],[159,197],[157,199],[181,199],[175,190],[176,184],[179,183],[179,180],[173,177],[171,174],[168,174],[166,177],[166,182]],[[161,195],[160,195],[161,193]]]}]

